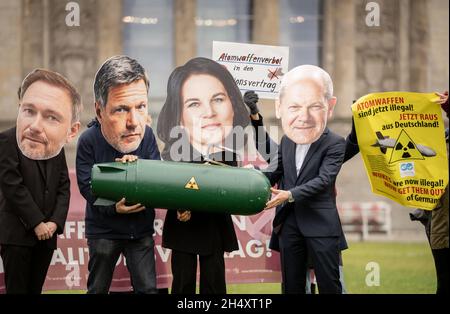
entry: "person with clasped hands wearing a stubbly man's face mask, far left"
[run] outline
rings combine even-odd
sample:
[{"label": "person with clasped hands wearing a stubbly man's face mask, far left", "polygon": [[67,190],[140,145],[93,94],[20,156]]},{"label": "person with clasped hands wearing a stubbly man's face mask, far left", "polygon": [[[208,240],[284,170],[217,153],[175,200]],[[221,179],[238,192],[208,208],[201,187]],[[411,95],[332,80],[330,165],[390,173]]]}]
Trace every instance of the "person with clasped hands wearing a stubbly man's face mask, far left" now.
[{"label": "person with clasped hands wearing a stubbly man's face mask, far left", "polygon": [[0,244],[6,293],[38,294],[64,230],[70,181],[63,146],[77,135],[75,87],[45,69],[19,88],[16,126],[0,133]]}]

